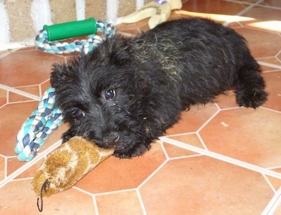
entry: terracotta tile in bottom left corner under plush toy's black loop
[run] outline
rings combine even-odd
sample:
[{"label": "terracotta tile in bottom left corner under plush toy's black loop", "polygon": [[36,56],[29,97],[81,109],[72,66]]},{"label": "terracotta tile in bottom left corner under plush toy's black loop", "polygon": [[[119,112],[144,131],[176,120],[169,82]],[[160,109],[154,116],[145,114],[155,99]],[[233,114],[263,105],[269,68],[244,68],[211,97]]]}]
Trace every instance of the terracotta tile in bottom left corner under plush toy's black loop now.
[{"label": "terracotta tile in bottom left corner under plush toy's black loop", "polygon": [[[13,193],[13,195],[11,195]],[[0,214],[37,214],[37,196],[32,190],[31,180],[12,181],[1,188]],[[63,193],[43,198],[41,214],[94,214],[93,197],[79,190],[70,189]]]}]

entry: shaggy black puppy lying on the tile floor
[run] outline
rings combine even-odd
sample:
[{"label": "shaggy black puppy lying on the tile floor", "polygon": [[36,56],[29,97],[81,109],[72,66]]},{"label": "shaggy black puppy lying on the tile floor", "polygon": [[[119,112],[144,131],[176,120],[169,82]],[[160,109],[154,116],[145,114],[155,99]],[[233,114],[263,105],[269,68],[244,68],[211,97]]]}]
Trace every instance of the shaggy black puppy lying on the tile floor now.
[{"label": "shaggy black puppy lying on the tile floor", "polygon": [[245,40],[202,18],[162,23],[136,38],[113,36],[91,53],[55,64],[51,85],[70,129],[114,155],[142,155],[181,111],[235,88],[240,106],[266,101]]}]

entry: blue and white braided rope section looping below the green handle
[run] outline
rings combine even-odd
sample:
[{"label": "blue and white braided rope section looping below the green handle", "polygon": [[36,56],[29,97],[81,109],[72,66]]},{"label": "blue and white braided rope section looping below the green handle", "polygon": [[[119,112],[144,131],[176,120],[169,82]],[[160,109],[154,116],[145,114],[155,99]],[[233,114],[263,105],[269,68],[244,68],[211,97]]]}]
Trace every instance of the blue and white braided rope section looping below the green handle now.
[{"label": "blue and white braided rope section looping below the green handle", "polygon": [[96,21],[96,27],[98,32],[103,32],[103,35],[100,37],[96,34],[89,35],[86,39],[75,40],[74,42],[68,43],[59,41],[48,41],[48,33],[46,30],[41,30],[37,37],[35,37],[35,46],[40,51],[48,53],[74,53],[81,52],[88,53],[89,51],[96,48],[101,44],[107,37],[111,34],[114,34],[115,27],[109,22]]}]

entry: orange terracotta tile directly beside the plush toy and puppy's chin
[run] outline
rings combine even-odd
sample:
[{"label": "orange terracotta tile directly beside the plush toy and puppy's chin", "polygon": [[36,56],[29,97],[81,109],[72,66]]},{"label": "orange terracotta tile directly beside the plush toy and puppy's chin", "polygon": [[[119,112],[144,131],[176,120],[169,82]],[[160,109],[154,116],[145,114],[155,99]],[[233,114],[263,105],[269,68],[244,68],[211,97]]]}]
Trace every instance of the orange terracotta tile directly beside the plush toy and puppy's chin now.
[{"label": "orange terracotta tile directly beside the plush toy and puppy's chin", "polygon": [[90,171],[77,183],[77,188],[89,193],[106,193],[115,190],[137,188],[145,178],[157,169],[166,157],[159,143],[141,157],[118,159],[110,157]]}]

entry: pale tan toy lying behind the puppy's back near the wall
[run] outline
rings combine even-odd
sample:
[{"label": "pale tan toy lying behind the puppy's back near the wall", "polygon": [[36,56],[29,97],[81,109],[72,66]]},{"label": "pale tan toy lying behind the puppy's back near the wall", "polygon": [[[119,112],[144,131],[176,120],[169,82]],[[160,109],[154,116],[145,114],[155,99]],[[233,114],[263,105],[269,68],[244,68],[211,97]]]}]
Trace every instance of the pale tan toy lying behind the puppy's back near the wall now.
[{"label": "pale tan toy lying behind the puppy's back near the wall", "polygon": [[172,10],[180,9],[182,6],[183,4],[181,3],[181,0],[151,1],[138,11],[124,16],[121,19],[121,22],[133,23],[151,17],[150,20],[148,20],[148,26],[152,29],[156,25],[168,20]]}]

